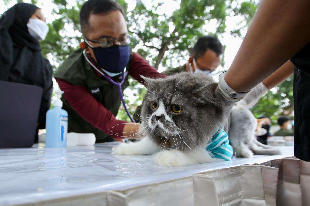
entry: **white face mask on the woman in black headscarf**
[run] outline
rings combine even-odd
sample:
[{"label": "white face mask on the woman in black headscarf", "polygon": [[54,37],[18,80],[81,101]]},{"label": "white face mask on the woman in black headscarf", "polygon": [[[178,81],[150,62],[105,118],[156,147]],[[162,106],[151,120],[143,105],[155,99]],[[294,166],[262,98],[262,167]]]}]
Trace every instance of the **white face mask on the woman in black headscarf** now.
[{"label": "white face mask on the woman in black headscarf", "polygon": [[27,23],[29,34],[35,38],[36,40],[45,40],[45,37],[48,33],[47,24],[40,19],[29,19],[29,23]]}]

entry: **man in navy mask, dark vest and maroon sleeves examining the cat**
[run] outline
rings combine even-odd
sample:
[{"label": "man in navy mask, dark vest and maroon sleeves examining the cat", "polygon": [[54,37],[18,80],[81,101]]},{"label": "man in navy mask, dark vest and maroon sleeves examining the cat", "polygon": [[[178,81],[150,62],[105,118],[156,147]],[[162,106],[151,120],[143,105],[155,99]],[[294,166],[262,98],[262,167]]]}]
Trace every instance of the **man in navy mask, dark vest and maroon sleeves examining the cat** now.
[{"label": "man in navy mask, dark vest and maroon sleeves examining the cat", "polygon": [[[80,24],[84,42],[55,74],[64,91],[62,101],[69,114],[68,132],[94,133],[97,142],[135,137],[139,124],[115,119],[122,99],[119,91],[129,85],[128,75],[137,81],[144,81],[140,75],[166,76],[131,52],[124,13],[116,2],[85,2]],[[120,83],[122,86],[118,87]]]}]

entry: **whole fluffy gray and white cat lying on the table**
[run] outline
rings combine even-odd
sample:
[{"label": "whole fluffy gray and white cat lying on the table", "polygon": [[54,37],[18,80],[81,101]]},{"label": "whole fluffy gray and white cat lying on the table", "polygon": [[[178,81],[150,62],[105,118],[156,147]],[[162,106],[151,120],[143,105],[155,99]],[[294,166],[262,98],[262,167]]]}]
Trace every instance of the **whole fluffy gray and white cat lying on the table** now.
[{"label": "whole fluffy gray and white cat lying on the table", "polygon": [[[153,159],[158,165],[170,167],[223,161],[206,151],[212,135],[227,124],[229,105],[232,105],[220,94],[217,83],[205,74],[188,72],[165,79],[144,80],[148,84],[141,111],[140,129],[144,138],[135,143],[120,144],[115,153],[155,154]],[[237,119],[235,111],[238,113],[233,110],[232,119]],[[250,149],[259,153],[259,146],[253,144],[252,133],[256,125],[252,116],[249,124],[244,125],[250,128],[248,130],[242,125],[231,124],[232,146],[239,156],[251,156]],[[238,128],[245,133],[238,133]]]}]

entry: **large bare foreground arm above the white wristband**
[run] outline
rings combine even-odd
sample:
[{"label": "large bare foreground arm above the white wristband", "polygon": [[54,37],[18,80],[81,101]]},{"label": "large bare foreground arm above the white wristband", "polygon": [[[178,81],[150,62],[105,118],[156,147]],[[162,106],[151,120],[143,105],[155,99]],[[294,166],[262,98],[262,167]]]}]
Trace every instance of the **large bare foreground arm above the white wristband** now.
[{"label": "large bare foreground arm above the white wristband", "polygon": [[294,56],[310,40],[309,11],[309,0],[262,0],[226,83],[246,92]]}]

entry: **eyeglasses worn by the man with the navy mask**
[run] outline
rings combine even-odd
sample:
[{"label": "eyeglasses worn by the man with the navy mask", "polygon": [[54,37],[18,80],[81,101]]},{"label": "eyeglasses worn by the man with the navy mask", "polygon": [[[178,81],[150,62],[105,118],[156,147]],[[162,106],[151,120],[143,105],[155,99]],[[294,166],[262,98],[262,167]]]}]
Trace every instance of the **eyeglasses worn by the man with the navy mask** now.
[{"label": "eyeglasses worn by the man with the navy mask", "polygon": [[[118,37],[117,39],[115,39],[113,37],[104,37],[100,40],[89,40],[87,38],[84,38],[84,40],[86,41],[86,43],[87,43],[87,41],[90,41],[90,42],[97,44],[98,47],[107,48],[107,47],[111,47],[115,44],[120,45],[120,46],[126,46],[126,45],[130,44],[131,36],[126,34],[126,35],[122,35],[122,36]],[[116,43],[115,43],[115,41],[116,41]],[[89,44],[89,46],[91,48],[94,48],[94,46],[92,46],[90,44]]]}]

